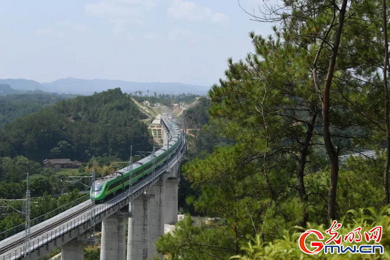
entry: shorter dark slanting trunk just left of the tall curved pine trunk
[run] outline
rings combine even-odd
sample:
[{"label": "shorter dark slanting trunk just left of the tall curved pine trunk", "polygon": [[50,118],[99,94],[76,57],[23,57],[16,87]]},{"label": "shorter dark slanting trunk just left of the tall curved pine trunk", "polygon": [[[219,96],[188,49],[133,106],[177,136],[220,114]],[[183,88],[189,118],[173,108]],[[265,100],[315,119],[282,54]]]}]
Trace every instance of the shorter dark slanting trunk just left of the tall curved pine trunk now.
[{"label": "shorter dark slanting trunk just left of the tall curved pine trunk", "polygon": [[302,219],[299,221],[298,225],[302,227],[306,227],[306,223],[309,219],[309,213],[306,210],[307,202],[308,202],[308,196],[306,193],[305,183],[304,183],[304,173],[305,173],[305,166],[306,166],[306,157],[308,155],[308,149],[310,145],[310,141],[313,137],[313,130],[314,130],[314,124],[315,120],[317,118],[318,110],[317,108],[313,107],[311,111],[311,118],[310,123],[308,125],[308,129],[306,131],[305,140],[302,143],[302,149],[300,151],[300,156],[298,159],[298,170],[296,172],[296,178],[298,182],[298,194],[299,199],[303,204],[303,216]]}]

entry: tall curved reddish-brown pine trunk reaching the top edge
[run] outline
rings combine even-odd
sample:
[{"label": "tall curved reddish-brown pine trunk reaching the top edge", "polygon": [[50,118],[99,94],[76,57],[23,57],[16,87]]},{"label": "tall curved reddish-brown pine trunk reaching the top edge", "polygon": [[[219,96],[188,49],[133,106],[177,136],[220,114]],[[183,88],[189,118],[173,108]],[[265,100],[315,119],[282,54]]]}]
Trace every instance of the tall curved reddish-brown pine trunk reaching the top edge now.
[{"label": "tall curved reddish-brown pine trunk reaching the top edge", "polygon": [[334,67],[336,65],[336,58],[338,48],[340,45],[341,33],[344,26],[344,17],[347,8],[347,0],[343,0],[340,8],[340,14],[338,19],[338,25],[334,36],[334,44],[329,61],[328,73],[325,79],[323,100],[322,100],[322,128],[324,131],[324,143],[325,148],[328,152],[329,158],[331,159],[331,181],[329,184],[329,202],[328,202],[328,220],[334,220],[336,215],[336,191],[337,191],[337,180],[338,180],[338,152],[334,149],[331,140],[331,133],[329,130],[329,108],[330,108],[330,89],[331,82],[334,73]]}]

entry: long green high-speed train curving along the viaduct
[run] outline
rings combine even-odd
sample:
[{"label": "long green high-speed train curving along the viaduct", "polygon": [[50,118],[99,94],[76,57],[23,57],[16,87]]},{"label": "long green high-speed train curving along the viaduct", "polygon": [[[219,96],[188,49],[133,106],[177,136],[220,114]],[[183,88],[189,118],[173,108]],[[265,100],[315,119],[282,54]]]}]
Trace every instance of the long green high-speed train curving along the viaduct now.
[{"label": "long green high-speed train curving along the viaduct", "polygon": [[[161,117],[169,132],[173,135],[168,144],[158,149],[154,155],[151,154],[138,162],[132,167],[125,167],[113,172],[110,175],[99,178],[95,181],[94,190],[90,190],[91,200],[96,202],[103,201],[111,194],[116,194],[117,191],[124,190],[130,183],[130,173],[132,173],[131,182],[134,184],[138,180],[148,176],[154,169],[163,165],[169,158],[176,154],[177,149],[181,146],[181,134],[176,124],[165,117]],[[155,158],[156,156],[156,158]],[[153,161],[155,160],[155,163]],[[130,171],[129,169],[132,169]]]}]

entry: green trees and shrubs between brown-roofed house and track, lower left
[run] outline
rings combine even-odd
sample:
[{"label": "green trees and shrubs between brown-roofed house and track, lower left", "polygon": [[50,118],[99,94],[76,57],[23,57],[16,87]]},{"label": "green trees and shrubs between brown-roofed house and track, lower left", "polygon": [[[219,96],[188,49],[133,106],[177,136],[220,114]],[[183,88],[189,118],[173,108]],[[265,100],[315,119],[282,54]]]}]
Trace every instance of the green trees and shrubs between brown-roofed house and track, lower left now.
[{"label": "green trees and shrubs between brown-roofed house and track, lower left", "polygon": [[[77,169],[72,170],[77,171]],[[78,193],[79,190],[84,190],[85,186],[71,182],[71,179],[67,178],[67,174],[61,169],[43,167],[40,163],[24,156],[0,157],[0,199],[16,200],[1,203],[3,207],[0,211],[0,240],[24,229],[24,216],[15,209],[22,210],[20,199],[25,198],[27,173],[29,173],[32,205],[34,205],[31,208],[32,225],[49,219],[87,199],[85,194]],[[81,174],[87,175],[88,173]],[[88,184],[88,181],[85,183]],[[53,210],[56,212],[51,212]],[[48,212],[51,213],[46,214]],[[46,215],[35,219],[43,214]],[[6,230],[8,233],[4,233]]]}]

